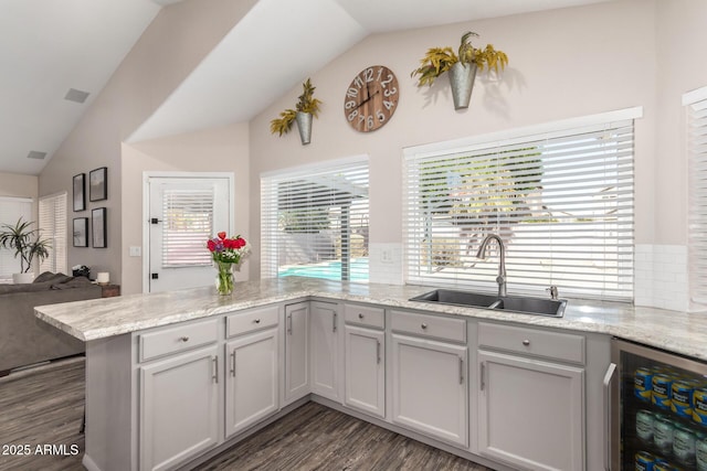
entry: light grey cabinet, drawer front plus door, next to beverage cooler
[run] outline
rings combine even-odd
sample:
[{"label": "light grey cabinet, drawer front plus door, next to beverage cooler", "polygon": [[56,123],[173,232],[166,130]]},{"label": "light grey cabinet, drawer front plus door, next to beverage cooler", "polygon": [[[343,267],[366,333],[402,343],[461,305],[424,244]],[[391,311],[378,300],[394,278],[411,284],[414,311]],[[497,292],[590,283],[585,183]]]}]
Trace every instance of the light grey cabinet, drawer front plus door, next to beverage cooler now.
[{"label": "light grey cabinet, drawer front plus door, next to beverage cooler", "polygon": [[487,323],[478,335],[479,452],[521,469],[585,469],[583,336]]}]

